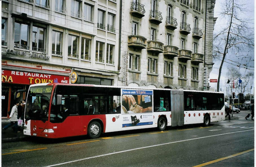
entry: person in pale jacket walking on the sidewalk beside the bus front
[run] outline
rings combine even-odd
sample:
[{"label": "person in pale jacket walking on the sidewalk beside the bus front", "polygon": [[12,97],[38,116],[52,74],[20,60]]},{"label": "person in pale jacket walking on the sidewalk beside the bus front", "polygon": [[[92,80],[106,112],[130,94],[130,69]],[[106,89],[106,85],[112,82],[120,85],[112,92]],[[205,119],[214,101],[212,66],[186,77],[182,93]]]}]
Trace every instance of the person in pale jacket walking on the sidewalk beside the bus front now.
[{"label": "person in pale jacket walking on the sidewalk beside the bus front", "polygon": [[16,104],[12,107],[12,111],[11,111],[11,114],[10,114],[10,123],[9,124],[7,124],[5,127],[3,127],[3,132],[7,129],[7,128],[9,128],[9,127],[11,127],[11,126],[13,126],[14,125],[14,132],[20,132],[20,131],[18,131],[18,119],[17,119],[17,116],[18,116],[18,106],[19,106],[19,102],[17,101],[16,102]]}]

